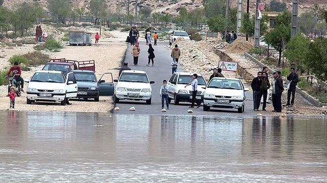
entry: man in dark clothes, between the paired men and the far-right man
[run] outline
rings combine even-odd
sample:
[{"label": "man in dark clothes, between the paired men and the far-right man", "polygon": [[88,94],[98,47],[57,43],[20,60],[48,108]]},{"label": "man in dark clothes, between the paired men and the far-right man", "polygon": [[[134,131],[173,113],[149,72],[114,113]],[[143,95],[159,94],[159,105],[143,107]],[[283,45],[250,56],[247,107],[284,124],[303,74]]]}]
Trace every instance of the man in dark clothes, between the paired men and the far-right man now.
[{"label": "man in dark clothes, between the paired men and the far-right man", "polygon": [[281,72],[277,71],[274,74],[274,80],[272,82],[273,86],[273,106],[275,113],[282,112],[282,94],[284,91],[283,79],[281,77]]}]

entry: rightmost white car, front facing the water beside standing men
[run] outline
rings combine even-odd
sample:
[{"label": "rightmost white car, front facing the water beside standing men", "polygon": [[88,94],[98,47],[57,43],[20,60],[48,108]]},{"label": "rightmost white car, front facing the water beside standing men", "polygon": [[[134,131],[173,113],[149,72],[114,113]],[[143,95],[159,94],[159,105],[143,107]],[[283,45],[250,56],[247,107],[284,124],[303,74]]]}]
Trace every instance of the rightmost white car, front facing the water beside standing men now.
[{"label": "rightmost white car, front facing the water beside standing men", "polygon": [[203,110],[209,111],[211,107],[229,108],[243,113],[245,92],[248,90],[239,79],[214,77],[206,88]]}]

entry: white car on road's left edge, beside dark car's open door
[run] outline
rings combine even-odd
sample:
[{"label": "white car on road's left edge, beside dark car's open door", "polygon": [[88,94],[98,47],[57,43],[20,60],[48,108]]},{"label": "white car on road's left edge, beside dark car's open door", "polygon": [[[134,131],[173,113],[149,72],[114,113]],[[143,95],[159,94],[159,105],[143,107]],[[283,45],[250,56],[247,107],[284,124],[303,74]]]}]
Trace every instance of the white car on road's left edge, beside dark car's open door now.
[{"label": "white car on road's left edge, beside dark car's open door", "polygon": [[146,101],[151,104],[152,87],[147,73],[140,70],[123,70],[115,89],[115,103],[120,100]]}]

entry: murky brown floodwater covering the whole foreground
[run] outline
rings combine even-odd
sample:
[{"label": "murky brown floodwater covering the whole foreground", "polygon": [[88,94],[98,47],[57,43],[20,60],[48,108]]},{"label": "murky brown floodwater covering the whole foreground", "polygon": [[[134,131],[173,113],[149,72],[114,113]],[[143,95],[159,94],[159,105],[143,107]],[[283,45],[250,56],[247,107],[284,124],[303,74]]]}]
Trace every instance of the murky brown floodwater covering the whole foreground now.
[{"label": "murky brown floodwater covering the whole foreground", "polygon": [[0,182],[327,182],[327,121],[3,111]]}]

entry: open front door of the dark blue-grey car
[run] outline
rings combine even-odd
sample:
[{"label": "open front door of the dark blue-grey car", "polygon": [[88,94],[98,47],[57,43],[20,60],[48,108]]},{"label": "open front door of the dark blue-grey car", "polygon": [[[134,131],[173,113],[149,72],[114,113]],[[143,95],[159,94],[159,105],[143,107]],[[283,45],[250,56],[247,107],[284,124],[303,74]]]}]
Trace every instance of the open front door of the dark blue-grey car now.
[{"label": "open front door of the dark blue-grey car", "polygon": [[102,74],[98,81],[100,96],[113,96],[115,86],[113,84],[112,73]]}]

